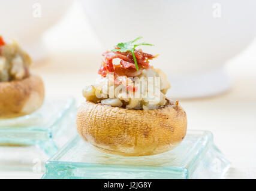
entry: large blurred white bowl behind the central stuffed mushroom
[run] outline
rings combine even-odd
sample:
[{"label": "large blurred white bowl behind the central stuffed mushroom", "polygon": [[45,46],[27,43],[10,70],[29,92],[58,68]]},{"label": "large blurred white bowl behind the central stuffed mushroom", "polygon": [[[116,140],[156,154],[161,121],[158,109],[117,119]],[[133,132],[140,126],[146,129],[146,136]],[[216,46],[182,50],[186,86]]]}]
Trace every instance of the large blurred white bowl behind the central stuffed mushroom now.
[{"label": "large blurred white bowl behind the central stuffed mushroom", "polygon": [[256,32],[256,1],[82,0],[106,48],[143,36],[159,53],[154,61],[179,98],[212,96],[230,87],[224,64],[247,47]]}]

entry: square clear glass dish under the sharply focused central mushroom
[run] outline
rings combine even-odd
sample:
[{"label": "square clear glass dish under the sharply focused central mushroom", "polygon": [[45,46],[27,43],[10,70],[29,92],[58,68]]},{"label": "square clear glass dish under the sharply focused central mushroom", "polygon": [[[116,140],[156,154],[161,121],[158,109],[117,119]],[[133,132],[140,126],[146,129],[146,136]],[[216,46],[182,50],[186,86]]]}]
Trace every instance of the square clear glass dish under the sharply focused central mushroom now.
[{"label": "square clear glass dish under the sharply focused central mushroom", "polygon": [[133,157],[100,152],[77,136],[46,162],[42,178],[222,178],[229,167],[209,131],[188,131],[173,150]]}]

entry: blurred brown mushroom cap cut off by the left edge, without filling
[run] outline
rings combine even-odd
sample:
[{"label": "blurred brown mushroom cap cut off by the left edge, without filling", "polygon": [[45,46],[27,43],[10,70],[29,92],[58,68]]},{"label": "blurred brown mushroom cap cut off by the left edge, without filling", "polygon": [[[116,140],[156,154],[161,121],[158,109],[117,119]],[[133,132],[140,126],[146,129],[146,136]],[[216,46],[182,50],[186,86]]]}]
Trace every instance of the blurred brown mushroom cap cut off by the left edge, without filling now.
[{"label": "blurred brown mushroom cap cut off by the left edge, without filling", "polygon": [[0,82],[0,119],[28,115],[44,101],[44,84],[39,76]]}]

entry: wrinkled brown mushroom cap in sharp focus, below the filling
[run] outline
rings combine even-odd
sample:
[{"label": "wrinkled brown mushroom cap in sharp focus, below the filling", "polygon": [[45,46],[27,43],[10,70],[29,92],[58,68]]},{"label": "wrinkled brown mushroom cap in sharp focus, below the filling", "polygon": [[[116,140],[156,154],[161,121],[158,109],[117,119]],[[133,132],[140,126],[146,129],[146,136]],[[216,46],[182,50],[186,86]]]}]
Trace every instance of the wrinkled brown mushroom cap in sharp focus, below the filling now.
[{"label": "wrinkled brown mushroom cap in sharp focus, below the filling", "polygon": [[77,112],[80,136],[107,153],[155,155],[173,149],[186,135],[186,112],[168,101],[153,110],[128,110],[85,101]]}]

